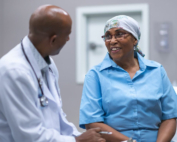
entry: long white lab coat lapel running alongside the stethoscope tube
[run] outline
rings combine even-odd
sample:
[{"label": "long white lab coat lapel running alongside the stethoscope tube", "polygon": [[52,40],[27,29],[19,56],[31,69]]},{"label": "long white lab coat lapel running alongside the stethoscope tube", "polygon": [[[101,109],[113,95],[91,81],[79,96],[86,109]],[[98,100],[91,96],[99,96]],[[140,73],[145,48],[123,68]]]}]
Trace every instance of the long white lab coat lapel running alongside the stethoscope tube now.
[{"label": "long white lab coat lapel running alongside the stethoscope tube", "polygon": [[44,83],[43,81],[43,78],[42,78],[42,74],[41,74],[41,71],[37,65],[37,62],[35,61],[34,59],[34,56],[32,54],[32,51],[30,49],[30,44],[26,44],[28,43],[27,42],[27,37],[25,37],[23,40],[22,40],[22,43],[23,43],[23,47],[24,47],[24,52],[26,53],[26,56],[27,58],[29,59],[37,77],[40,79],[40,83],[42,84],[42,89],[43,89],[43,92],[44,92],[44,95],[45,97],[47,97],[48,99],[50,99],[51,101],[55,102],[55,99],[53,98],[52,94],[50,93],[48,87],[46,86],[46,84]]}]

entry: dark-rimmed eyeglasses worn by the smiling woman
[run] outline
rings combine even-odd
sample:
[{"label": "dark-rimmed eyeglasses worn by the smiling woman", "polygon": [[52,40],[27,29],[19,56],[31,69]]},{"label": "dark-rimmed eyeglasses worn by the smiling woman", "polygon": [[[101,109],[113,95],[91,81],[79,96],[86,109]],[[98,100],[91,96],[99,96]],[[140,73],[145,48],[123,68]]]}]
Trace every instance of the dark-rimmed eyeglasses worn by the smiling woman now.
[{"label": "dark-rimmed eyeglasses worn by the smiling woman", "polygon": [[103,35],[101,37],[103,38],[103,40],[105,42],[110,42],[113,36],[116,40],[119,40],[119,39],[123,39],[128,34],[130,34],[130,33],[128,33],[128,32],[118,32],[115,35],[106,34],[106,35]]}]

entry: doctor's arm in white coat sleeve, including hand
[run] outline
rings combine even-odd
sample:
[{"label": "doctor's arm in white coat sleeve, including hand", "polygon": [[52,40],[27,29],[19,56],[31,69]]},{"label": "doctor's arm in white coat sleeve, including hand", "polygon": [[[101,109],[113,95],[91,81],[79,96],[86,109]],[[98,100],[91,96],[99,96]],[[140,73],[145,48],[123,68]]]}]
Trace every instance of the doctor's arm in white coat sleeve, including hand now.
[{"label": "doctor's arm in white coat sleeve, including hand", "polygon": [[[15,141],[105,142],[98,133],[101,129],[90,130],[75,139],[73,136],[60,135],[55,129],[46,128],[41,110],[37,107],[37,84],[27,71],[10,69],[0,79],[0,111],[7,119]],[[91,137],[88,139],[88,136]]]}]

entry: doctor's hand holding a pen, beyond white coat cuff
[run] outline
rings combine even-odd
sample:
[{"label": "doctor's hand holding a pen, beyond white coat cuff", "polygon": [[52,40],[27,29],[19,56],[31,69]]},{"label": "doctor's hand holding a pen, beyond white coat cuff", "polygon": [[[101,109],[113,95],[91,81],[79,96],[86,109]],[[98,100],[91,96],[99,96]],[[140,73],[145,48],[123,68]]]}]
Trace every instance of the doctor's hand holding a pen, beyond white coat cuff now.
[{"label": "doctor's hand holding a pen, beyond white coat cuff", "polygon": [[76,142],[106,142],[99,134],[100,131],[100,128],[89,129],[82,135],[76,137]]}]

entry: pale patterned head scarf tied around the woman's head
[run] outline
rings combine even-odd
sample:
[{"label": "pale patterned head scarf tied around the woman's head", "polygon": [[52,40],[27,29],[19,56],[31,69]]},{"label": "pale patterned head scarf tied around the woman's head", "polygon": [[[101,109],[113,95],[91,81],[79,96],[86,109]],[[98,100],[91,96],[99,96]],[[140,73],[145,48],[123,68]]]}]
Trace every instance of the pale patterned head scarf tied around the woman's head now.
[{"label": "pale patterned head scarf tied around the woman's head", "polygon": [[[126,15],[119,15],[115,16],[111,19],[109,19],[106,22],[105,28],[104,28],[104,34],[111,28],[122,28],[125,31],[131,33],[139,42],[140,37],[141,37],[141,32],[140,32],[140,27],[138,23],[131,17],[126,16]],[[143,57],[145,56],[140,49],[138,49],[138,42],[134,46],[134,50],[136,50],[140,55]]]}]

